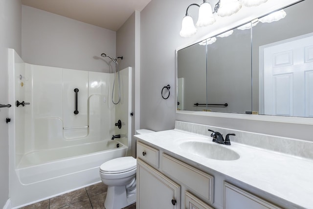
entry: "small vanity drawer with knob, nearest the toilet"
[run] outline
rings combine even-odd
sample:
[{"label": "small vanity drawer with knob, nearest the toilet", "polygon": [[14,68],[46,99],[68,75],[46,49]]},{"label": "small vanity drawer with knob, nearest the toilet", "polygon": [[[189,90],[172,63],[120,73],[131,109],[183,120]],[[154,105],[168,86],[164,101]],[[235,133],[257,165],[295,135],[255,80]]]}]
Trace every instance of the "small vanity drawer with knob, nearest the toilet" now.
[{"label": "small vanity drawer with knob, nearest the toilet", "polygon": [[137,141],[137,158],[140,158],[156,168],[159,166],[159,151],[151,146],[141,143],[140,141]]}]

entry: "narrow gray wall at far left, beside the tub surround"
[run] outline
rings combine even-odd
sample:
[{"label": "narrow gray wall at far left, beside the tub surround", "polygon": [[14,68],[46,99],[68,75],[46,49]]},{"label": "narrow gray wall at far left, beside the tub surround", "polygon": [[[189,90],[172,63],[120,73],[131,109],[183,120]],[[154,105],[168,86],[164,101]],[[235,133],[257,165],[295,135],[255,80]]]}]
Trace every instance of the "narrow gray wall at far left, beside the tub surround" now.
[{"label": "narrow gray wall at far left, beside the tub surround", "polygon": [[[0,104],[8,103],[8,48],[20,55],[21,49],[21,0],[0,0]],[[12,104],[14,105],[14,104]],[[9,142],[5,118],[8,108],[0,109],[0,208],[9,199]]]}]

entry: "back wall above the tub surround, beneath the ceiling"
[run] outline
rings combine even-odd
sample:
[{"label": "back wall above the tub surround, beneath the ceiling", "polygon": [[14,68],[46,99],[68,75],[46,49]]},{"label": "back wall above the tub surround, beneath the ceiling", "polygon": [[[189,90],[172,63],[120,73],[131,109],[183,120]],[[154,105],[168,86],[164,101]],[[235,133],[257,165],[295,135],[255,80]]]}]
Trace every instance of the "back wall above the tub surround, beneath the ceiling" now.
[{"label": "back wall above the tub surround, beneath the ceiling", "polygon": [[[35,65],[110,72],[115,32],[22,6],[22,59]],[[112,65],[113,66],[113,65]]]}]

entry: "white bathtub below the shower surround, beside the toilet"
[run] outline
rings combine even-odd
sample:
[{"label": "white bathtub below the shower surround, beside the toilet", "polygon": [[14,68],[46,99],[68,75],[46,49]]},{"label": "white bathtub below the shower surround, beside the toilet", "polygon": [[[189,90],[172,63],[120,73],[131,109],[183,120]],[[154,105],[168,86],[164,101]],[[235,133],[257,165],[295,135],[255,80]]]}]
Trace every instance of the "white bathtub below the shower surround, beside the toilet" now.
[{"label": "white bathtub below the shower surround, beside the toilet", "polygon": [[100,182],[100,165],[126,156],[127,148],[124,144],[109,139],[25,154],[19,168],[15,169],[16,175],[12,177],[18,179],[12,185],[15,188],[15,193],[11,196],[12,203],[15,203],[12,208]]}]

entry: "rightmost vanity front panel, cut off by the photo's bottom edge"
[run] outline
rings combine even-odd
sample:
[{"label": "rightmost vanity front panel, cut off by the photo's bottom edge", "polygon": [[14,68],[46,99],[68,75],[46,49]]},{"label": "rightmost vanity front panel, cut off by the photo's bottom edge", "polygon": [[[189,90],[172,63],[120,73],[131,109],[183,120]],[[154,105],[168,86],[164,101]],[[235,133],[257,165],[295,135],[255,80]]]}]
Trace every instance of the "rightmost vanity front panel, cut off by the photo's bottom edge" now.
[{"label": "rightmost vanity front panel, cut off by the photo's bottom edge", "polygon": [[224,182],[224,209],[281,209],[237,186]]}]

